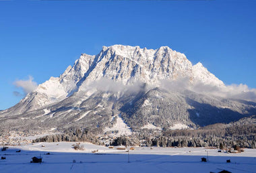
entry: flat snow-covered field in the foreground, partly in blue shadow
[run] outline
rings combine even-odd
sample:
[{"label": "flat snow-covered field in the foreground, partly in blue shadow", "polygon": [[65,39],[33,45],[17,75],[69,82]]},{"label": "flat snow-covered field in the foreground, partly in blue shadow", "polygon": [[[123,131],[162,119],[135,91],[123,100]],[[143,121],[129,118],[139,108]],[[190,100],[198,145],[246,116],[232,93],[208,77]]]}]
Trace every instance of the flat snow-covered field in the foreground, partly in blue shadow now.
[{"label": "flat snow-covered field in the foreground, partly in blue shadow", "polygon": [[[241,154],[220,153],[205,148],[141,148],[117,150],[81,143],[84,151],[72,148],[75,142],[34,143],[0,151],[0,172],[256,172],[256,150]],[[44,145],[45,147],[42,147]],[[21,150],[21,152],[16,152]],[[92,151],[98,152],[92,153]],[[50,155],[45,155],[46,153]],[[208,162],[201,162],[207,158]],[[30,163],[34,156],[42,163]],[[75,162],[73,162],[75,160]],[[227,163],[226,160],[230,160]]]}]

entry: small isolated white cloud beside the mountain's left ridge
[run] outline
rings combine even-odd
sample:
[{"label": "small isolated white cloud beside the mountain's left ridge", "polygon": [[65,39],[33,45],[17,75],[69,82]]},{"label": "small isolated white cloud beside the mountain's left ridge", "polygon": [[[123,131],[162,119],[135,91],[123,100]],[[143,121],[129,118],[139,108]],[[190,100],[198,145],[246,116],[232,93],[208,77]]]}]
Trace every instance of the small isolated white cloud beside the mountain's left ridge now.
[{"label": "small isolated white cloud beside the mountain's left ridge", "polygon": [[[13,84],[15,85],[15,87],[22,88],[24,95],[27,95],[28,93],[31,93],[32,91],[34,91],[38,86],[38,84],[33,80],[34,78],[32,76],[28,76],[28,80],[15,80]],[[18,95],[18,94],[15,93],[15,95]]]}]

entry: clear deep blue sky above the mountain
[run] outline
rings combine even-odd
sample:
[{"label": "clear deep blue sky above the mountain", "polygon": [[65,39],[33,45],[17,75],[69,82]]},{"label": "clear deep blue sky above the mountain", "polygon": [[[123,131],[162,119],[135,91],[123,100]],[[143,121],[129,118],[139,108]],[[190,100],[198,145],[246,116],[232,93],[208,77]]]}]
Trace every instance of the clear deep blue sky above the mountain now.
[{"label": "clear deep blue sky above the mountain", "polygon": [[256,88],[256,1],[0,1],[0,109],[102,46],[169,46],[225,84]]}]

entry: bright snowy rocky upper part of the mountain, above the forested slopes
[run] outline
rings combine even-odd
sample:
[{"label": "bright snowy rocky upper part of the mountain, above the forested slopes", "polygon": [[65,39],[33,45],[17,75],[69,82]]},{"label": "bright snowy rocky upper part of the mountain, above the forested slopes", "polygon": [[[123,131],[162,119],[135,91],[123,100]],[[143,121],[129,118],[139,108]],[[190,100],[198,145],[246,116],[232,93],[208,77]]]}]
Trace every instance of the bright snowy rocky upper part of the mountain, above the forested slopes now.
[{"label": "bright snowy rocky upper part of the mountain, above the forested slopes", "polygon": [[[224,86],[200,62],[192,66],[185,54],[168,46],[153,50],[139,46],[114,45],[103,46],[98,55],[82,54],[59,77],[51,77],[40,84],[32,95],[34,99],[28,96],[25,100],[34,100],[37,105],[44,107],[67,99],[73,93],[88,92],[91,89],[90,84],[102,79],[123,85],[142,82],[158,86],[162,80],[177,80],[180,77],[190,78],[191,84],[201,82]],[[93,93],[92,90],[90,93]]]}]

